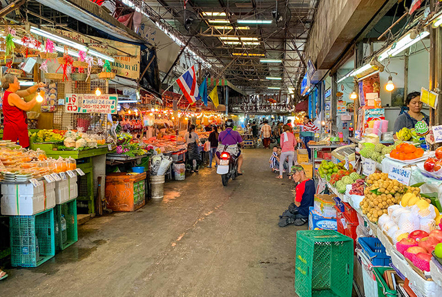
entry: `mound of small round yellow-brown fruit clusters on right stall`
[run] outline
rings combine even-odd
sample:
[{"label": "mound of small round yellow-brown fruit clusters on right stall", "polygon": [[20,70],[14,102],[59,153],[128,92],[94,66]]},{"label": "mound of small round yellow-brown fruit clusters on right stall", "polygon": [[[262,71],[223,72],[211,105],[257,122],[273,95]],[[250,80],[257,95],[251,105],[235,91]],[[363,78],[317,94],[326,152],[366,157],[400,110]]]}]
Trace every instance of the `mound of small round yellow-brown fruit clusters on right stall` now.
[{"label": "mound of small round yellow-brown fruit clusters on right stall", "polygon": [[371,222],[377,222],[381,215],[387,213],[387,207],[400,202],[406,191],[403,184],[390,180],[387,173],[372,173],[367,177],[367,184],[361,209]]}]

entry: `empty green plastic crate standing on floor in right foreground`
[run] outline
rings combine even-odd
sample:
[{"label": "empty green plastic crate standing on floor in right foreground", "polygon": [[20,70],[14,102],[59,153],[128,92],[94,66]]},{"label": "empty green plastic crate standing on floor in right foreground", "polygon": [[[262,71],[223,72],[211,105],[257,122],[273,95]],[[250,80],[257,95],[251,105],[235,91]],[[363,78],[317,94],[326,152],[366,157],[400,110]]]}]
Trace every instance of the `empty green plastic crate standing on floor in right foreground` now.
[{"label": "empty green plastic crate standing on floor in right foreground", "polygon": [[350,297],[352,286],[352,238],[332,230],[296,233],[296,294]]}]

